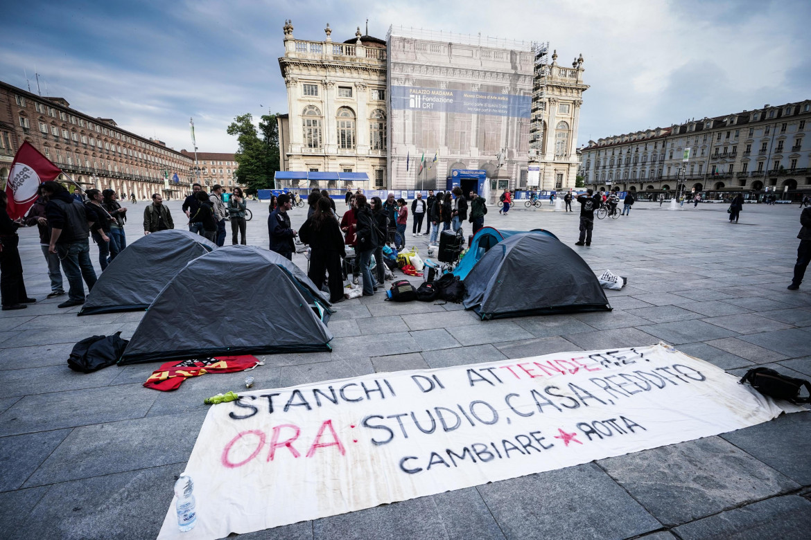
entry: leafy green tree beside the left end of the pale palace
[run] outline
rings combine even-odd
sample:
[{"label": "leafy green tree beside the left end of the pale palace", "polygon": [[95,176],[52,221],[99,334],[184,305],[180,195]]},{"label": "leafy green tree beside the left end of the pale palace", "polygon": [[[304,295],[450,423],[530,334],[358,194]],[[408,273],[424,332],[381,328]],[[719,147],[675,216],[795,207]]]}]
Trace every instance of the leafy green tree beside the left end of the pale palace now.
[{"label": "leafy green tree beside the left end of the pale palace", "polygon": [[264,114],[257,132],[251,113],[234,118],[226,132],[236,135],[238,142],[236,171],[237,181],[246,186],[246,191],[274,187],[273,176],[279,170],[279,130],[277,115]]}]

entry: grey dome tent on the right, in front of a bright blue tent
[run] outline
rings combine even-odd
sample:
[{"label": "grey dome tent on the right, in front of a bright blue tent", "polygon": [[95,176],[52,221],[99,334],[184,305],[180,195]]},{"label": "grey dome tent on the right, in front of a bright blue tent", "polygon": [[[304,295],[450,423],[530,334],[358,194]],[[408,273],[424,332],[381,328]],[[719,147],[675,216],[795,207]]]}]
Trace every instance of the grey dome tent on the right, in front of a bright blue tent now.
[{"label": "grey dome tent on the right, in front of a bright blue tent", "polygon": [[553,236],[505,238],[484,253],[464,283],[462,303],[483,320],[611,309],[586,261]]}]

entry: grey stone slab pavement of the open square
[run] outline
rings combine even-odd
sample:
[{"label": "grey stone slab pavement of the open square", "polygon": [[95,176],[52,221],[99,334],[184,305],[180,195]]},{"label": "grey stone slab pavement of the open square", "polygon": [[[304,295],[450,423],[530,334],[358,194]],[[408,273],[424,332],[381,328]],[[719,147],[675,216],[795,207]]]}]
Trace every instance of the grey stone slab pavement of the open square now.
[{"label": "grey stone slab pavement of the open square", "polygon": [[[142,235],[144,205],[132,209],[130,242]],[[179,206],[169,202],[182,227]],[[266,246],[268,207],[249,207],[249,244]],[[392,304],[378,294],[337,304],[332,353],[264,356],[264,367],[252,373],[256,388],[660,340],[735,375],[757,364],[811,377],[811,276],[800,291],[786,290],[800,210],[747,205],[738,224],[727,223],[725,210],[637,203],[629,217],[598,221],[594,244],[575,249],[595,272],[628,277],[622,291],[607,291],[611,313],[482,322],[456,304]],[[294,209],[294,226],[305,215]],[[577,240],[577,214],[560,211],[519,207],[501,216],[491,206],[486,224],[543,227],[569,245]],[[20,236],[28,291],[45,299],[49,281],[36,229]],[[407,240],[424,253],[427,236],[410,236],[409,227]],[[91,252],[97,264],[94,244]],[[302,255],[295,261],[307,265]],[[71,372],[66,360],[75,342],[118,330],[129,338],[142,313],[76,317],[78,308],[56,307],[62,300],[0,315],[2,536],[154,538],[206,414],[203,398],[237,389],[244,376],[204,376],[161,393],[142,387],[156,364]],[[243,536],[808,538],[809,448],[811,415],[787,415],[721,436]]]}]

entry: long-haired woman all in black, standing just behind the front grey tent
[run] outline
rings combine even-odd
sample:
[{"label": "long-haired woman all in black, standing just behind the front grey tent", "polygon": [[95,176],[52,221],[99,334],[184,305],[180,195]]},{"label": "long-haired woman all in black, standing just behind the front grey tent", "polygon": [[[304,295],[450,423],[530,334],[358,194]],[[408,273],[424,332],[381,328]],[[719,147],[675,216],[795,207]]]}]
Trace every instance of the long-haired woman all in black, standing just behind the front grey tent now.
[{"label": "long-haired woman all in black, standing just behind the front grey tent", "polygon": [[310,246],[310,270],[307,277],[315,287],[324,284],[329,274],[329,301],[344,300],[344,279],[341,257],[346,257],[344,236],[333,217],[333,207],[328,198],[320,198],[310,218],[298,229],[298,237]]}]

